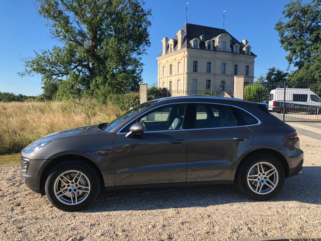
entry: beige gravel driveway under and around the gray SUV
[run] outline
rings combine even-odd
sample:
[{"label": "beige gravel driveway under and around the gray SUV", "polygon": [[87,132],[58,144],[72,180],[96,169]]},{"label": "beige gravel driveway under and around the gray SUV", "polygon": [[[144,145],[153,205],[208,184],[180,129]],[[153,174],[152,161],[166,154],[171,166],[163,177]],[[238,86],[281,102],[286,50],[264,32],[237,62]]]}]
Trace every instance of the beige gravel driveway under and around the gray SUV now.
[{"label": "beige gravel driveway under and around the gray SUV", "polygon": [[233,186],[109,191],[84,211],[54,208],[0,167],[0,240],[230,240],[321,234],[321,144],[300,136],[303,172],[272,201],[251,201]]}]

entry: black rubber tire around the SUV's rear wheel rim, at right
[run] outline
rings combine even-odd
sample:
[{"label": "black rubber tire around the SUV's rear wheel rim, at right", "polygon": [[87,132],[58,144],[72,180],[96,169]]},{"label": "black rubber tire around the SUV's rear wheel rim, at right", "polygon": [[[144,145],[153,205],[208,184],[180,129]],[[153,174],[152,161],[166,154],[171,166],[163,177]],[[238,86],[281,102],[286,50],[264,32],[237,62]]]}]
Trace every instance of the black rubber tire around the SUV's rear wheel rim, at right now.
[{"label": "black rubber tire around the SUV's rear wheel rim, at right", "polygon": [[[254,192],[247,183],[247,174],[250,171],[250,168],[259,162],[267,162],[272,164],[277,173],[278,173],[278,183],[272,192],[266,194],[258,194]],[[265,201],[275,197],[281,190],[284,185],[284,169],[282,164],[272,155],[266,153],[256,153],[249,157],[247,157],[239,166],[238,171],[236,173],[236,184],[241,193],[245,196],[258,200],[258,201]]]}]

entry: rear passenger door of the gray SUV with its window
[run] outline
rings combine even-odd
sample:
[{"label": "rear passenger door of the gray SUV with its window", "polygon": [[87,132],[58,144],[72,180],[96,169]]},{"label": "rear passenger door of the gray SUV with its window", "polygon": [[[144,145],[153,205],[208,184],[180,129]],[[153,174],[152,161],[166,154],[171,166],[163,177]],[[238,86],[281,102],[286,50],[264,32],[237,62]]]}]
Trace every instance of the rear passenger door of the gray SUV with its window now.
[{"label": "rear passenger door of the gray SUV with its window", "polygon": [[246,127],[259,121],[224,104],[193,103],[187,148],[187,182],[233,180],[236,165],[251,147]]}]

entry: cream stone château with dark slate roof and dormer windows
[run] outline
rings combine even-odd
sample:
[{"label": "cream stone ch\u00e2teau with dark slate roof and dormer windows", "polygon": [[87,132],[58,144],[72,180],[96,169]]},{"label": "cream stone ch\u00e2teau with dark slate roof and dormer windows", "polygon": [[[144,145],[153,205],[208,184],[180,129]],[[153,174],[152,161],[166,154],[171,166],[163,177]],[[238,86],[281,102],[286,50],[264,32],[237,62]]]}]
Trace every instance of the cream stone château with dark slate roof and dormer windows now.
[{"label": "cream stone ch\u00e2teau with dark slate roof and dormer windows", "polygon": [[254,59],[247,40],[223,29],[185,24],[173,39],[163,38],[158,86],[169,90],[233,90],[234,76],[253,83]]}]

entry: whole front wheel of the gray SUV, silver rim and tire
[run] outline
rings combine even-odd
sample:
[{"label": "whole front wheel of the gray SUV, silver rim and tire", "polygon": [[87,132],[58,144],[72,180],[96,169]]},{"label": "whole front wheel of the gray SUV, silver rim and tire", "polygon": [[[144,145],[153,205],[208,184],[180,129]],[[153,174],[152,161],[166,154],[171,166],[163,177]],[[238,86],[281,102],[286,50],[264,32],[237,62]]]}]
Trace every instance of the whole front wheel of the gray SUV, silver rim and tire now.
[{"label": "whole front wheel of the gray SUV, silver rim and tire", "polygon": [[100,190],[100,180],[91,165],[69,160],[52,170],[45,190],[48,200],[56,208],[78,211],[95,201]]}]

